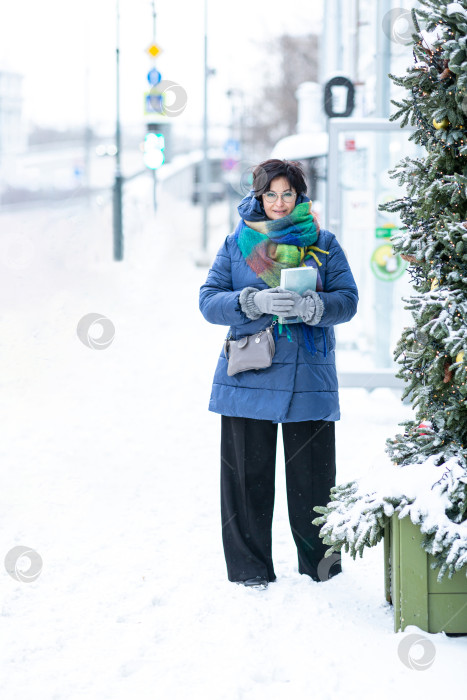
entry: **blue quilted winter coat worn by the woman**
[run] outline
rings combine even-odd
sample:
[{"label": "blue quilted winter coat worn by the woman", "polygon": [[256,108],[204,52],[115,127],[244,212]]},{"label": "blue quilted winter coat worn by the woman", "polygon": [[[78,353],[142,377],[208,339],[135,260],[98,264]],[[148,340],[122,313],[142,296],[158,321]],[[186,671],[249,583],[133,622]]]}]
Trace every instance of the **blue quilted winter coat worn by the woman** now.
[{"label": "blue quilted winter coat worn by the woman", "polygon": [[[271,367],[229,377],[223,349],[219,356],[209,410],[225,416],[259,418],[274,423],[305,420],[336,421],[340,418],[334,357],[334,326],[355,315],[358,292],[344,251],[336,237],[322,230],[315,244],[329,255],[317,253],[324,313],[312,330],[316,352],[307,349],[302,326],[290,324],[291,342],[285,330],[276,340]],[[200,289],[201,313],[210,323],[230,326],[234,340],[257,333],[272,323],[263,315],[250,320],[241,310],[244,287],[267,288],[245,262],[234,235],[225,239]],[[277,326],[276,326],[277,327]]]}]

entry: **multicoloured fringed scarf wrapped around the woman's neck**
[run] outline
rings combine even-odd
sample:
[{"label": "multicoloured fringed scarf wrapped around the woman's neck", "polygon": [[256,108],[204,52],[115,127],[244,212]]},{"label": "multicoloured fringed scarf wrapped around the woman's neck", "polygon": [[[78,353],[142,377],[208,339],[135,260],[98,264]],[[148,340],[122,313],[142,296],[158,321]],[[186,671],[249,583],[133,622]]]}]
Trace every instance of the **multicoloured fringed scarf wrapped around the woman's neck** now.
[{"label": "multicoloured fringed scarf wrapped around the woman's neck", "polygon": [[289,215],[280,219],[241,220],[235,238],[247,265],[268,287],[279,286],[284,268],[315,267],[312,259],[321,266],[314,251],[328,252],[313,245],[318,239],[318,227],[310,213],[309,201],[297,204]]}]

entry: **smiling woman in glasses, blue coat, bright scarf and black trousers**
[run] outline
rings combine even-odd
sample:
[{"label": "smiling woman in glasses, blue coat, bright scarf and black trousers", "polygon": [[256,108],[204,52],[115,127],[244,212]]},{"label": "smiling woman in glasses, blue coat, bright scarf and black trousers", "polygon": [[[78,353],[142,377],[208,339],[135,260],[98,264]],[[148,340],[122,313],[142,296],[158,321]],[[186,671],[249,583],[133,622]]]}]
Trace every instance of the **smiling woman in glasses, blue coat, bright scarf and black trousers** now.
[{"label": "smiling woman in glasses, blue coat, bright scarf and black trousers", "polygon": [[[334,234],[319,231],[299,163],[267,160],[238,207],[241,220],[209,270],[200,309],[235,339],[257,333],[277,316],[304,322],[274,327],[267,369],[227,375],[221,352],[209,409],[221,418],[222,539],[230,581],[266,588],[274,581],[272,514],[277,424],[282,423],[290,526],[298,570],[315,581],[326,546],[313,507],[335,484],[334,422],[339,398],[334,329],[355,314],[358,293]],[[281,289],[282,268],[312,266],[316,291]],[[329,572],[341,571],[335,562]]]}]

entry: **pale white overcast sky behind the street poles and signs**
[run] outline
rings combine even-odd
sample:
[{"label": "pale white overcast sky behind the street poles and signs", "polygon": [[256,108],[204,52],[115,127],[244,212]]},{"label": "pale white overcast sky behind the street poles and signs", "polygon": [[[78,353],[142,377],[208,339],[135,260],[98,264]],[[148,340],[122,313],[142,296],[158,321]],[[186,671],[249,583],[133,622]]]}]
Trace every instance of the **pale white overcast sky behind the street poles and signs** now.
[{"label": "pale white overcast sky behind the street poles and signs", "polygon": [[[322,0],[224,0],[209,2],[210,111],[227,118],[225,91],[253,90],[267,61],[264,42],[283,32],[319,32]],[[185,87],[180,117],[200,121],[203,97],[204,0],[156,0],[155,64],[164,79]],[[24,79],[28,122],[67,127],[82,124],[86,104],[93,125],[110,125],[115,113],[116,0],[20,0],[0,11],[0,70]],[[153,65],[151,0],[120,0],[121,104],[126,123],[143,120],[146,75]],[[88,81],[86,81],[88,74]],[[88,91],[86,91],[86,84]],[[88,99],[86,100],[86,94]]]}]

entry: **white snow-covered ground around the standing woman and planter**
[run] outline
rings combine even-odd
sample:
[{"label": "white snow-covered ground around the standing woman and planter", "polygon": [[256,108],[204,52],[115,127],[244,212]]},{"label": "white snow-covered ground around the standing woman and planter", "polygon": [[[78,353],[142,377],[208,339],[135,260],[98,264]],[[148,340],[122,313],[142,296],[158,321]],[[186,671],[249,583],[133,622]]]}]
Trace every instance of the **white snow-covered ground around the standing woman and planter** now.
[{"label": "white snow-covered ground around the standing woman and planter", "polygon": [[[467,638],[394,634],[381,544],[330,581],[298,574],[280,449],[277,581],[227,581],[207,411],[225,329],[198,311],[200,212],[167,195],[154,216],[148,185],[127,198],[120,263],[105,206],[0,215],[0,553],[43,561],[33,582],[2,569],[0,697],[460,697]],[[213,208],[211,255],[224,220]],[[79,340],[88,313],[114,325],[106,349]],[[342,390],[341,405],[345,481],[387,459],[410,409],[383,389]],[[425,670],[400,658],[413,633],[433,644]]]}]

